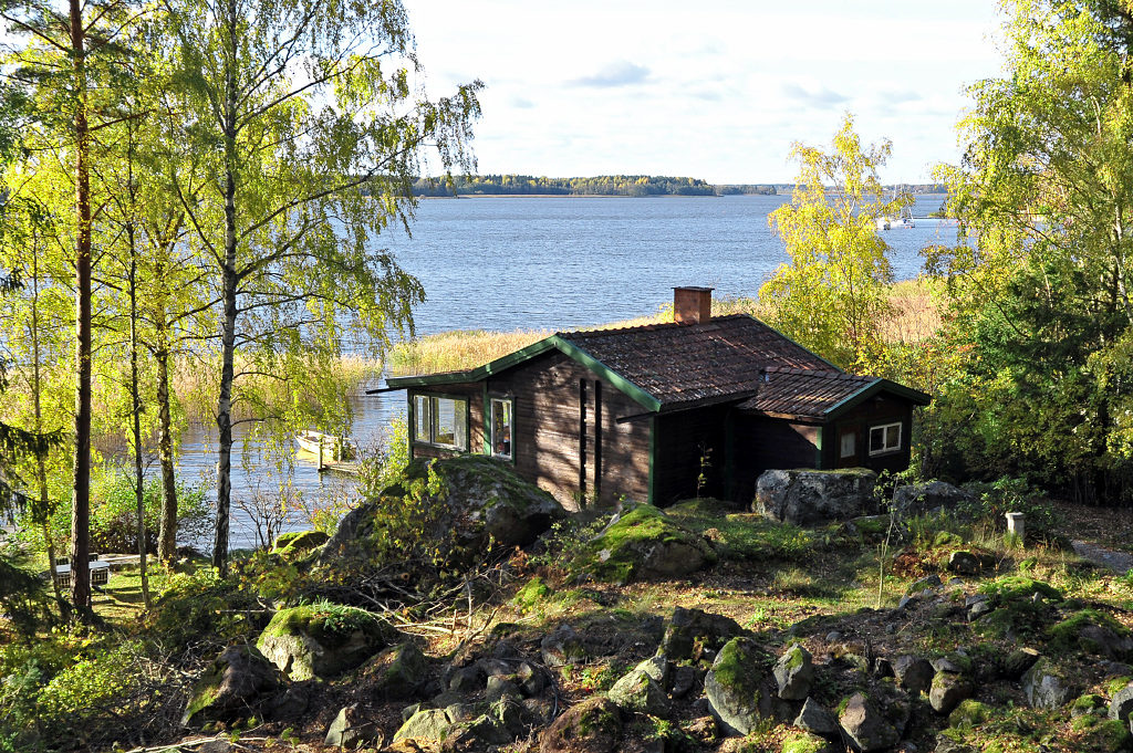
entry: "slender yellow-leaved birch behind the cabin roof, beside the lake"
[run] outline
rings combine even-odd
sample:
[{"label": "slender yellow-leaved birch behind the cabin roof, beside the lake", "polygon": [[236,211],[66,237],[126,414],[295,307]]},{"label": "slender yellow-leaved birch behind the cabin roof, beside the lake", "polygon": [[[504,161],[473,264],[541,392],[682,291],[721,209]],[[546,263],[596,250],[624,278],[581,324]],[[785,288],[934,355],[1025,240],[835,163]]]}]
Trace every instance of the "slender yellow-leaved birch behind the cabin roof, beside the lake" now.
[{"label": "slender yellow-leaved birch behind the cabin roof, beside the lake", "polygon": [[893,272],[876,221],[911,202],[881,198],[877,169],[891,151],[888,142],[863,147],[847,114],[832,152],[794,145],[801,172],[791,204],[768,217],[791,260],[759,290],[760,302],[774,326],[842,368],[861,368],[881,350]]}]

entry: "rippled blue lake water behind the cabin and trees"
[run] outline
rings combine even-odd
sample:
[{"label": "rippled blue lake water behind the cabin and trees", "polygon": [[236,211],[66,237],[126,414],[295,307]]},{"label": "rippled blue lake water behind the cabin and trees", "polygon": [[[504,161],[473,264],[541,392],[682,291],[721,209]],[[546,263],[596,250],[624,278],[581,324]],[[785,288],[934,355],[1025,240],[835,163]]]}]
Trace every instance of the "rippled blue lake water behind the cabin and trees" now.
[{"label": "rippled blue lake water behind the cabin and trees", "polygon": [[[920,219],[943,200],[918,196],[917,226],[883,233],[898,279],[917,276],[922,248],[956,242],[954,223]],[[577,328],[655,311],[675,285],[713,286],[717,298],[755,297],[786,260],[767,225],[767,215],[786,202],[790,196],[425,199],[411,238],[397,229],[375,246],[393,251],[425,285],[427,300],[415,315],[418,334]],[[404,412],[402,393],[359,394],[351,403],[353,436],[364,447],[381,442],[390,419]],[[211,433],[188,431],[182,451],[182,478],[211,488]],[[233,473],[233,547],[256,544],[238,500],[278,496],[281,486],[308,505],[353,494],[348,479],[321,478],[313,459],[297,456],[291,470],[275,465],[255,440],[248,444]],[[305,527],[301,514],[287,523]]]}]

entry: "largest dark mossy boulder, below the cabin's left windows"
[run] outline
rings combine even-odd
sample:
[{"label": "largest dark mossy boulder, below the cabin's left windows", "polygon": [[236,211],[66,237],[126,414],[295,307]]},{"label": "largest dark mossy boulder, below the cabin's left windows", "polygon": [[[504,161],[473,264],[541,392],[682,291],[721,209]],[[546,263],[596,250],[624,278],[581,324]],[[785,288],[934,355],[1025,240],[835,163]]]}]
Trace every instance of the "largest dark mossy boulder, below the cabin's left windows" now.
[{"label": "largest dark mossy boulder, below the cabin's left windows", "polygon": [[[448,542],[453,553],[459,549],[479,556],[492,546],[527,546],[566,515],[554,497],[521,479],[510,463],[494,457],[461,455],[415,461],[407,474],[409,482],[428,481],[428,489],[416,503],[432,514],[426,538]],[[384,494],[395,497],[406,491],[394,487]],[[365,557],[367,542],[387,533],[377,514],[382,504],[368,502],[350,511],[323,547],[320,562],[332,564],[351,555]]]}]

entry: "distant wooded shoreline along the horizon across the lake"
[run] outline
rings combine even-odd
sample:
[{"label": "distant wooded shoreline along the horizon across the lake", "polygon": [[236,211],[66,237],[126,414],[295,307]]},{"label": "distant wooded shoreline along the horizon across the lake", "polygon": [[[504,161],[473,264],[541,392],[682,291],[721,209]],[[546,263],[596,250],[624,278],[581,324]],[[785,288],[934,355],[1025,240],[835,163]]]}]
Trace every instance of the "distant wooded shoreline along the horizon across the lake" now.
[{"label": "distant wooded shoreline along the horizon across the lake", "polygon": [[[944,186],[901,185],[911,194],[946,192]],[[699,178],[668,176],[596,176],[594,178],[547,178],[545,176],[454,176],[443,180],[418,178],[415,196],[739,196],[790,194],[791,183],[721,183]]]}]

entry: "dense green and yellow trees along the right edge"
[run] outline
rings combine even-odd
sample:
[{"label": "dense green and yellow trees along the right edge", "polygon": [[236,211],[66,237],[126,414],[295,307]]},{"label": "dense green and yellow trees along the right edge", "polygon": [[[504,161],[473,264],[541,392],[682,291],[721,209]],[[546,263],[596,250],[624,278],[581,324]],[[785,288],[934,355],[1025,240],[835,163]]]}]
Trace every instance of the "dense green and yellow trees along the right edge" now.
[{"label": "dense green and yellow trees along the right edge", "polygon": [[1133,22],[1108,0],[1004,3],[1005,75],[974,84],[943,170],[972,246],[936,249],[951,337],[936,470],[1133,499]]}]

